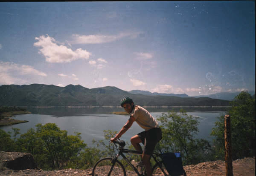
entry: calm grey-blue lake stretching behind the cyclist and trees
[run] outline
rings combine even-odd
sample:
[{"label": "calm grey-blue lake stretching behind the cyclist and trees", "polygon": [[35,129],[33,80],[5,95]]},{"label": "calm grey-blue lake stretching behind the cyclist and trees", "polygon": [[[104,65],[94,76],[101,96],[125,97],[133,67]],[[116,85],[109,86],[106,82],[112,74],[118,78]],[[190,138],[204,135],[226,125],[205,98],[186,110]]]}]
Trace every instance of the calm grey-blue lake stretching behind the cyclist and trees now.
[{"label": "calm grey-blue lake stretching behind the cyclist and trees", "polygon": [[[164,108],[147,108],[154,118],[166,113],[168,110]],[[12,128],[19,128],[20,133],[26,133],[28,129],[35,128],[38,123],[55,123],[61,130],[66,130],[68,134],[74,132],[81,133],[81,138],[88,146],[93,146],[92,140],[102,140],[104,138],[104,130],[119,131],[127,122],[129,116],[116,115],[112,112],[123,111],[122,108],[28,108],[32,114],[17,115],[14,118],[20,120],[28,120],[27,123],[20,123],[11,126],[2,126],[0,129],[4,131],[12,131]],[[197,138],[212,141],[210,136],[211,129],[214,127],[217,116],[225,111],[192,111],[188,115],[199,117],[198,125],[199,133]],[[131,136],[140,133],[143,129],[136,122],[131,128],[122,135],[121,139],[129,142]]]}]

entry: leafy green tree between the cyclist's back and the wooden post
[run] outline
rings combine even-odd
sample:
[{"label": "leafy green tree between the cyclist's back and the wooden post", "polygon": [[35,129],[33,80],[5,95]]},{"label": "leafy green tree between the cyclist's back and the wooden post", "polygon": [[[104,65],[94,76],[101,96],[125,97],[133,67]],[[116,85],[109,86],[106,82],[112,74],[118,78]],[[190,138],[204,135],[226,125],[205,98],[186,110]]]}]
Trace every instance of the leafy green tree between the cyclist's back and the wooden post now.
[{"label": "leafy green tree between the cyclist's back and the wooden post", "polygon": [[211,147],[209,142],[205,139],[195,139],[198,133],[198,117],[189,116],[181,110],[180,114],[163,113],[157,120],[161,122],[163,138],[156,150],[180,151],[185,165],[197,164],[209,157]]}]

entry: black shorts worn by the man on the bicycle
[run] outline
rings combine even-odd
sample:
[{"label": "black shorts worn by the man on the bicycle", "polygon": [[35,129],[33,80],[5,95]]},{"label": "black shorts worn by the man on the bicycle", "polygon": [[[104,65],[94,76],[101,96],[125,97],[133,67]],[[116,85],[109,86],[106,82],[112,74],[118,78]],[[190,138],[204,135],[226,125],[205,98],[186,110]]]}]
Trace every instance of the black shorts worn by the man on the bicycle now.
[{"label": "black shorts worn by the man on the bicycle", "polygon": [[161,128],[152,128],[148,131],[143,131],[137,134],[140,137],[144,145],[143,152],[147,155],[152,155],[157,142],[162,139],[162,131]]}]

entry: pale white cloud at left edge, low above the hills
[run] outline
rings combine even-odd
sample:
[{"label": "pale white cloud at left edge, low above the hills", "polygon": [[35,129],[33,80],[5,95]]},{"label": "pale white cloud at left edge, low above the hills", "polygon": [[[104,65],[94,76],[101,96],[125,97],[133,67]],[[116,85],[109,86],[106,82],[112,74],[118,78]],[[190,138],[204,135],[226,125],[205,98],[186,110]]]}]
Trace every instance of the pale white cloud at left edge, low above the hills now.
[{"label": "pale white cloud at left edge, low above the hills", "polygon": [[38,71],[29,65],[0,61],[0,84],[24,84],[27,82],[26,80],[17,78],[17,75],[47,76],[44,72]]}]

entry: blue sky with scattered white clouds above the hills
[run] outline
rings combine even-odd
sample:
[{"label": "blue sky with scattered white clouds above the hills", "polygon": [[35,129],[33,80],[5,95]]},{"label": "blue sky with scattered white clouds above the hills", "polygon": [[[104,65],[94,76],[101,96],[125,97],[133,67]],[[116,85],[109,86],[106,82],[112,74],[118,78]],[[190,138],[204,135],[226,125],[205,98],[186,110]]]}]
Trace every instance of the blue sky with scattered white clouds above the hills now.
[{"label": "blue sky with scattered white clouds above the hills", "polygon": [[0,85],[255,90],[254,3],[2,2]]}]

